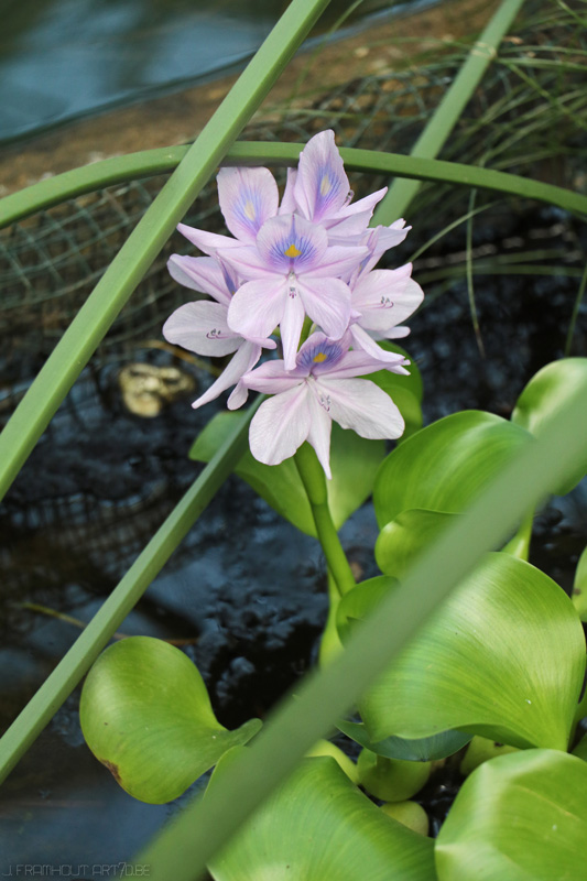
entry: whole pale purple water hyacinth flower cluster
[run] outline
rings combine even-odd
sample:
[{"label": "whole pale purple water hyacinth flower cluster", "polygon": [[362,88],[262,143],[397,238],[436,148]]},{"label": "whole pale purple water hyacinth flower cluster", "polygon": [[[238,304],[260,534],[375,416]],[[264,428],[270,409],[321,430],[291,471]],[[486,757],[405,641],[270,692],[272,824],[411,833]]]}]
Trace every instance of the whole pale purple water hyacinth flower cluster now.
[{"label": "whole pale purple water hyacinth flower cluster", "polygon": [[[381,369],[407,373],[403,356],[377,340],[405,336],[402,322],[423,292],[411,264],[377,270],[410,227],[370,228],[385,188],[352,203],[334,132],[312,138],[290,170],[280,204],[268,168],[221,168],[218,197],[230,236],[181,224],[205,257],[172,255],[172,276],[211,301],[181,306],[165,338],[197,355],[232,358],[194,402],[198,407],[235,387],[228,406],[249,389],[272,395],[250,426],[253,456],[276,465],[307,440],[328,477],[331,422],[362,437],[396,438],[403,418],[374,382]],[[256,367],[263,349],[282,357]]]}]

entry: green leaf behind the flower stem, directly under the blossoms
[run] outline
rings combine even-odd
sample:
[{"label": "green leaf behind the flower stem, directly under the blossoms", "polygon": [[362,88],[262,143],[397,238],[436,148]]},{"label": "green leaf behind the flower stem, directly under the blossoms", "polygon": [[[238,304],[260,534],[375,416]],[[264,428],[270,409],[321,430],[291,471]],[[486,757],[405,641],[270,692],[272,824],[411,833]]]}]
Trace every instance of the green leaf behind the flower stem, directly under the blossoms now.
[{"label": "green leaf behind the flower stem, directly under the blossoms", "polygon": [[[209,461],[218,445],[242,418],[241,413],[218,413],[196,438],[189,458]],[[385,455],[383,440],[367,440],[355,432],[333,425],[328,507],[336,529],[371,494],[373,479]],[[281,465],[263,465],[247,450],[235,468],[279,514],[307,535],[316,537],[314,519],[293,458]]]}]

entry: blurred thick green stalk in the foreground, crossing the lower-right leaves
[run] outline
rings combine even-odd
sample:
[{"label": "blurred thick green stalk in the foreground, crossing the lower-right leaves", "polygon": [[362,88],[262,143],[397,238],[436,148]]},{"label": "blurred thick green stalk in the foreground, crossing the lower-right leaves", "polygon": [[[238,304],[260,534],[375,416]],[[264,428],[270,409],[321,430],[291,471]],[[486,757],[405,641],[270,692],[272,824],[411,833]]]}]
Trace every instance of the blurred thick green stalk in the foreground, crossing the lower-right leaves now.
[{"label": "blurred thick green stalk in the foreground, crossing the lower-right leaves", "polygon": [[[302,757],[344,717],[409,644],[479,557],[499,547],[526,511],[585,458],[587,381],[357,628],[345,651],[296,685],[217,786],[137,857],[150,881],[193,881]],[[507,503],[504,503],[507,500]]]}]

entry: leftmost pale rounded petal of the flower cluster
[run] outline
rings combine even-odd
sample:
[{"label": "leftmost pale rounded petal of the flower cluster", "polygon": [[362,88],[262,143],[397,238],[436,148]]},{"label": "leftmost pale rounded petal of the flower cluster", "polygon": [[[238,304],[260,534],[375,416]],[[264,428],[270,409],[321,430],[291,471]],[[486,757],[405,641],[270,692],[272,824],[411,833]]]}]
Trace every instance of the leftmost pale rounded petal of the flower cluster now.
[{"label": "leftmost pale rounded petal of the flower cluster", "polygon": [[228,327],[226,316],[227,307],[221,303],[203,300],[186,303],[170,315],[163,325],[163,336],[174,346],[197,355],[229,355],[242,339]]}]

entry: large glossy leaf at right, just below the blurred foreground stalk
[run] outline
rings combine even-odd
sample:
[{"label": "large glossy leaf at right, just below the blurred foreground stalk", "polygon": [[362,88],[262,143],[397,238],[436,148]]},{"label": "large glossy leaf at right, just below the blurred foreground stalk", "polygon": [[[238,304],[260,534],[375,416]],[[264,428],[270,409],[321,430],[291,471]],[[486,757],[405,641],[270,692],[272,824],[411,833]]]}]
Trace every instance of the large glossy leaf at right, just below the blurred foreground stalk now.
[{"label": "large glossy leaf at right, just below the blurred foreground stalk", "polygon": [[[344,597],[340,617],[351,599],[352,616],[361,617],[363,591],[358,585]],[[381,591],[382,584],[367,583],[363,613]],[[359,709],[373,742],[459,729],[514,747],[564,750],[584,670],[583,628],[568,597],[530,564],[492,553]]]}]

